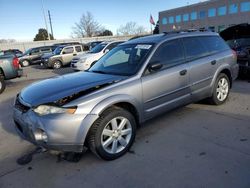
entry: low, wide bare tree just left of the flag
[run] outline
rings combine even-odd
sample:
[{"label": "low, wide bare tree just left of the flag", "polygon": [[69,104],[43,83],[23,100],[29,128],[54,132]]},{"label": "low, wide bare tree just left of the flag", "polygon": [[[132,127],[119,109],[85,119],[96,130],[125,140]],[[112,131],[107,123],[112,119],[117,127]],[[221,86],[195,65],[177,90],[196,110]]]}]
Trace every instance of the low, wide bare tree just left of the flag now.
[{"label": "low, wide bare tree just left of the flag", "polygon": [[146,33],[145,27],[135,22],[128,22],[126,25],[121,25],[117,30],[118,35],[140,35],[144,33]]}]

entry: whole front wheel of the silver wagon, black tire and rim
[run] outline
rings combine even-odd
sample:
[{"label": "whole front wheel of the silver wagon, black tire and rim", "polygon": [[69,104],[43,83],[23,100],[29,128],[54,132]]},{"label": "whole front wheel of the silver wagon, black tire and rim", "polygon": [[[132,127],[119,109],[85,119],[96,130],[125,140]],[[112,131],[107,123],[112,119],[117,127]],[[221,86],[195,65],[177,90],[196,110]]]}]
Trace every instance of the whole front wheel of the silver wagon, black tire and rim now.
[{"label": "whole front wheel of the silver wagon, black tire and rim", "polygon": [[130,112],[118,107],[109,108],[92,125],[88,146],[98,157],[114,160],[129,150],[135,133],[136,122]]}]

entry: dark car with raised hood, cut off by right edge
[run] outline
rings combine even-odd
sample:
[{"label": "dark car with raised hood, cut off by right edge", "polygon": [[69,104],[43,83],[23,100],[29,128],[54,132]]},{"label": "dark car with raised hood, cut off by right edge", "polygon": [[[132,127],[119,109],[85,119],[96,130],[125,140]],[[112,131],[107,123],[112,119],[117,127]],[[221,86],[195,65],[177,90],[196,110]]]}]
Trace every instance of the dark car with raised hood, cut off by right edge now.
[{"label": "dark car with raised hood, cut off by right edge", "polygon": [[250,24],[229,27],[220,35],[237,53],[239,75],[250,76]]}]

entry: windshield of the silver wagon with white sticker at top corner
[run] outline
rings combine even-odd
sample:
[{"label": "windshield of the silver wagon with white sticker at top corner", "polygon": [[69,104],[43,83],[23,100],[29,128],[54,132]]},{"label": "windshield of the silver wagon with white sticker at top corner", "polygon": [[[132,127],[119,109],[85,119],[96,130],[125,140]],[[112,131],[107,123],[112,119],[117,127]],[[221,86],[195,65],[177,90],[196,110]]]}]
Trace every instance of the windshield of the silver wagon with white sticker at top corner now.
[{"label": "windshield of the silver wagon with white sticker at top corner", "polygon": [[114,48],[89,69],[90,72],[132,76],[141,68],[151,44],[130,44]]}]

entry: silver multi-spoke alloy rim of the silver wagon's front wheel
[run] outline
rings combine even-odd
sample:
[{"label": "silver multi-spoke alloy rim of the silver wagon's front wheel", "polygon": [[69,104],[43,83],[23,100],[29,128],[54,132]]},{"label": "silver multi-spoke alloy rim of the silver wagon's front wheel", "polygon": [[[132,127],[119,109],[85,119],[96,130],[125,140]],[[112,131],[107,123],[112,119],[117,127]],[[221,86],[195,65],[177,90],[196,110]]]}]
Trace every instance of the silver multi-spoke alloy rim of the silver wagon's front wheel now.
[{"label": "silver multi-spoke alloy rim of the silver wagon's front wheel", "polygon": [[103,149],[116,154],[126,148],[132,136],[132,126],[127,118],[116,117],[107,123],[101,135]]}]

